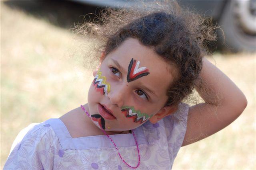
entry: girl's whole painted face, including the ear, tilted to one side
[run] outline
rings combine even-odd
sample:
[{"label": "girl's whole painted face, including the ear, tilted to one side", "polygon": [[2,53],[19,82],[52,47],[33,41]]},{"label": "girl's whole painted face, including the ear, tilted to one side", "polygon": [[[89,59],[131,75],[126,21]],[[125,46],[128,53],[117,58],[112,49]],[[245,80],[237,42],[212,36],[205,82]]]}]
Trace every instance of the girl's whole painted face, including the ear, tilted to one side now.
[{"label": "girl's whole painted face, including the ear, tilted to one side", "polygon": [[173,81],[169,66],[137,39],[125,40],[109,53],[88,93],[91,120],[106,131],[127,131],[170,114],[164,107]]}]

